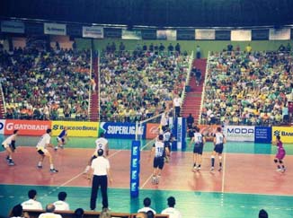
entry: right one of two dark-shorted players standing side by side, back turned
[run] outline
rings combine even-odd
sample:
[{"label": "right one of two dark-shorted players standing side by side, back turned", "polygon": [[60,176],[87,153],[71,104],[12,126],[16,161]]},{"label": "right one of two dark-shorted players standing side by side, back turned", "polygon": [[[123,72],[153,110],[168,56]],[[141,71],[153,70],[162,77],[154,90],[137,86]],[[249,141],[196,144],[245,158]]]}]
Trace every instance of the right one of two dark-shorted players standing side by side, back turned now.
[{"label": "right one of two dark-shorted players standing side by side, back turned", "polygon": [[222,153],[224,144],[226,143],[225,135],[221,133],[222,128],[218,126],[217,133],[214,135],[214,151],[211,154],[211,168],[210,171],[215,170],[215,156],[218,154],[218,170],[222,170]]}]

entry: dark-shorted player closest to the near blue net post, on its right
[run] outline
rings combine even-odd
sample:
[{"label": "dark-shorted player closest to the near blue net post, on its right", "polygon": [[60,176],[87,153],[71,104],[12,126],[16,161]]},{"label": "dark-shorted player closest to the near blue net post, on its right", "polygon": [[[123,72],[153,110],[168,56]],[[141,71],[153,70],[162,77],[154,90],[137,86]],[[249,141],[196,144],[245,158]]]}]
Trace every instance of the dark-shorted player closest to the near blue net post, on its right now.
[{"label": "dark-shorted player closest to the near blue net post, on its right", "polygon": [[154,162],[153,162],[153,184],[159,183],[159,177],[161,175],[161,171],[164,168],[164,153],[167,155],[169,154],[169,149],[164,145],[163,142],[164,136],[159,135],[158,140],[153,145],[153,148],[150,153],[150,157],[154,155]]}]

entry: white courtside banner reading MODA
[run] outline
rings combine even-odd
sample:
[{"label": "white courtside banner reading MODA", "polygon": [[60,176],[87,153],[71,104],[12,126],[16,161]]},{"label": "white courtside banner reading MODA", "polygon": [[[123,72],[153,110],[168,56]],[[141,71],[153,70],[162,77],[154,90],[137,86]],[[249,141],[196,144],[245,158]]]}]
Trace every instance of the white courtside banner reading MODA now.
[{"label": "white courtside banner reading MODA", "polygon": [[253,142],[254,126],[225,126],[224,135],[228,141]]}]

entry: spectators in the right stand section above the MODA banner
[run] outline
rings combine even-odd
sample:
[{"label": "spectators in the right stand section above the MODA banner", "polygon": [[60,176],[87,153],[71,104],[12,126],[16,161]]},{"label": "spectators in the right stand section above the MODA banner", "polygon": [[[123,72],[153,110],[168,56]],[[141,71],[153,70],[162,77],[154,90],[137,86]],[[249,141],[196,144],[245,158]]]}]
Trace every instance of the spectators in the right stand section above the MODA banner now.
[{"label": "spectators in the right stand section above the MODA banner", "polygon": [[289,52],[212,53],[201,123],[281,125],[289,123],[293,57]]}]

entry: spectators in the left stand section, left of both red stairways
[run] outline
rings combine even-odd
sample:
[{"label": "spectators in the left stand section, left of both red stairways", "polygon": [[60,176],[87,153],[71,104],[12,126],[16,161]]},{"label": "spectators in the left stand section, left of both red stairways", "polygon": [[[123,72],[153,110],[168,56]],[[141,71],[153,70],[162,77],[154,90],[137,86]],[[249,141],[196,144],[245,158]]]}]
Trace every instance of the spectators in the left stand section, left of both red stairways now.
[{"label": "spectators in the left stand section, left of both red stairways", "polygon": [[6,118],[87,119],[90,51],[0,51]]}]

